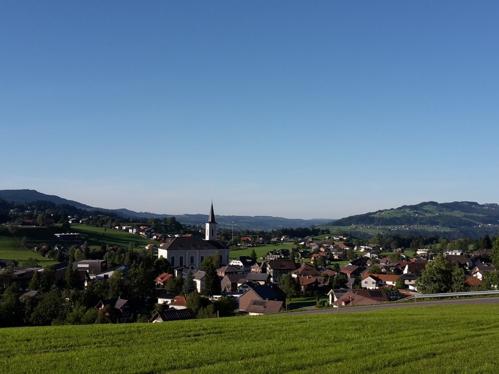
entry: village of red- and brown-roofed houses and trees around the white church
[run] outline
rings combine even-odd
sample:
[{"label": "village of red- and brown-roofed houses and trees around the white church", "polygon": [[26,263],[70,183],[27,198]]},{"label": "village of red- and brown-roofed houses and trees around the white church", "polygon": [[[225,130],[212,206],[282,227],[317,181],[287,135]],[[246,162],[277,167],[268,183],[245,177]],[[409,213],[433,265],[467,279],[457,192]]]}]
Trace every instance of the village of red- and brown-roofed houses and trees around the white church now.
[{"label": "village of red- and brown-roofed houses and trees around the white church", "polygon": [[[23,311],[24,321],[35,325],[54,323],[53,316],[36,320],[33,315],[43,315],[39,310],[44,305],[41,297],[60,289],[63,291],[59,291],[57,302],[65,305],[65,318],[75,313],[75,304],[79,303],[88,309],[80,310],[76,323],[128,323],[275,314],[300,307],[292,302],[296,298],[317,300],[306,309],[410,300],[419,293],[430,293],[432,285],[425,284],[423,275],[427,266],[439,261],[448,269],[446,292],[496,288],[494,282],[485,279],[495,273],[492,249],[452,249],[439,254],[432,249],[418,249],[414,256],[409,256],[403,248],[355,245],[345,236],[331,234],[317,240],[313,236],[282,235],[272,237],[271,242],[292,241],[296,247],[274,249],[259,258],[253,249],[250,256],[234,258],[231,248],[219,240],[217,225],[212,204],[204,238],[192,234],[165,235],[145,225],[114,226],[114,230],[129,231],[160,243],[148,243],[143,248],[151,254],[151,261],[155,259],[150,270],[143,263],[137,266],[132,251],[123,254],[124,264],[118,266],[108,266],[119,262],[111,257],[78,259],[77,253],[88,250],[81,245],[74,261],[49,268],[19,267],[11,260],[0,259],[1,281],[4,289],[15,287],[20,300],[17,310],[31,305],[29,311]],[[66,244],[55,246],[51,253],[66,254],[67,243],[81,240],[77,233],[55,236]],[[242,237],[241,241],[250,248],[263,239]],[[120,250],[116,246],[105,249]],[[127,256],[132,257],[127,261]],[[4,296],[3,310],[5,299]]]}]

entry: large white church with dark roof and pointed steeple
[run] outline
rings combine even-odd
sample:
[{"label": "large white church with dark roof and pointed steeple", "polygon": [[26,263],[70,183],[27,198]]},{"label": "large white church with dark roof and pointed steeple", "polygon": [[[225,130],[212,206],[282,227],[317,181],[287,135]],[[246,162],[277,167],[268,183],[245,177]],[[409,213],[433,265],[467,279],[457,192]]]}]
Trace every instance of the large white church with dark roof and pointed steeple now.
[{"label": "large white church with dark roof and pointed steeple", "polygon": [[166,258],[173,267],[185,266],[201,269],[201,263],[208,256],[220,255],[221,263],[229,263],[229,248],[217,240],[217,222],[213,202],[206,222],[205,238],[179,236],[167,241],[158,249],[158,257]]}]

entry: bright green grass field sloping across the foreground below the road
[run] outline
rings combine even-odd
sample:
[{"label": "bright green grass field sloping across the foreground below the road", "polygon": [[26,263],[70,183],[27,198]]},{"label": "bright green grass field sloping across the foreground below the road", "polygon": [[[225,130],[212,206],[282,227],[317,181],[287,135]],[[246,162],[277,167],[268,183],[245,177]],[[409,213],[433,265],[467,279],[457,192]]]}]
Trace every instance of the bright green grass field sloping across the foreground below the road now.
[{"label": "bright green grass field sloping across the foreground below the road", "polygon": [[[0,329],[4,373],[497,373],[499,305]],[[466,318],[463,318],[466,316]]]}]

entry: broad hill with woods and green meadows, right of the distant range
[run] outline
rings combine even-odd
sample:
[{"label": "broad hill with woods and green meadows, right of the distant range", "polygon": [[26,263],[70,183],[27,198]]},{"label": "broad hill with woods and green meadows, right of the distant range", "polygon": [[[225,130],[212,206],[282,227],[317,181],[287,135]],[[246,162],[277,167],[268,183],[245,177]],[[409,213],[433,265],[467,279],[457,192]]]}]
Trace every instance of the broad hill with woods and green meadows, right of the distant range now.
[{"label": "broad hill with woods and green meadows, right of the distant range", "polygon": [[427,201],[352,215],[330,222],[330,225],[357,234],[412,231],[412,234],[437,233],[442,236],[475,238],[498,233],[499,205],[473,201]]}]

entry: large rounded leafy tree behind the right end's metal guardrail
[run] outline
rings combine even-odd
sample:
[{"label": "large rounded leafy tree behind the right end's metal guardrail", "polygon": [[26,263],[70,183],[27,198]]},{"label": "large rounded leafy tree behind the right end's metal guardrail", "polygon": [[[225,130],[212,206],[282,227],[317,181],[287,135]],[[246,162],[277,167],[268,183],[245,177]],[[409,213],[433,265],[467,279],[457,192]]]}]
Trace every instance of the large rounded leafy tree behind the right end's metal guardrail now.
[{"label": "large rounded leafy tree behind the right end's metal guardrail", "polygon": [[418,292],[436,294],[449,292],[452,288],[454,264],[439,253],[433,261],[426,264],[421,277],[416,280]]}]

